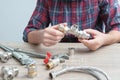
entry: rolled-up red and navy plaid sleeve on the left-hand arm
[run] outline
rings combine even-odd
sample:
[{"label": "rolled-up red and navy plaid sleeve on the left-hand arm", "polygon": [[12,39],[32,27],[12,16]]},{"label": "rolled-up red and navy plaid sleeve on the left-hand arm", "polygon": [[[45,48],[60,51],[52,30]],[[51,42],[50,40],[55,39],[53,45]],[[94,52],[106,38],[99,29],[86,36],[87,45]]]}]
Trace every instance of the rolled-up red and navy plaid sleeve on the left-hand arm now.
[{"label": "rolled-up red and navy plaid sleeve on the left-hand arm", "polygon": [[46,0],[37,1],[36,8],[23,32],[23,40],[25,42],[28,42],[27,36],[29,32],[44,29],[48,27],[50,23],[48,6],[45,1]]}]

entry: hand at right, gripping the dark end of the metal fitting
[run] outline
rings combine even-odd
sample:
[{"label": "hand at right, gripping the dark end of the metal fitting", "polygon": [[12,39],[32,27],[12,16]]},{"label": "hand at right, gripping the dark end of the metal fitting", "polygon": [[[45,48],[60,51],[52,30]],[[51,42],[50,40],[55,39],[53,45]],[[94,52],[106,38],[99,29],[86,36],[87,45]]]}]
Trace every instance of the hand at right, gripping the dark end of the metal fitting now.
[{"label": "hand at right, gripping the dark end of the metal fitting", "polygon": [[91,34],[93,39],[90,39],[90,40],[78,39],[78,40],[81,43],[83,43],[86,47],[88,47],[90,50],[96,50],[100,48],[104,44],[104,40],[106,40],[107,38],[106,34],[101,33],[97,30],[86,29],[85,31]]}]

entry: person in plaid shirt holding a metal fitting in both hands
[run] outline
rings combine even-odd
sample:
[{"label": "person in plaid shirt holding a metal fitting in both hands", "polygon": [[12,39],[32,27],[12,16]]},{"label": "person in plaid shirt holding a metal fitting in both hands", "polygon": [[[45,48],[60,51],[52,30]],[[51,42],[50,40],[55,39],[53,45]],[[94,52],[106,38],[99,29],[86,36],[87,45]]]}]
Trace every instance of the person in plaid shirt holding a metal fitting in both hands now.
[{"label": "person in plaid shirt holding a metal fitting in both hands", "polygon": [[[64,35],[58,30],[59,24],[68,27],[76,24],[93,39]],[[120,42],[119,0],[38,0],[23,32],[23,40],[45,46],[81,42],[90,50]]]}]

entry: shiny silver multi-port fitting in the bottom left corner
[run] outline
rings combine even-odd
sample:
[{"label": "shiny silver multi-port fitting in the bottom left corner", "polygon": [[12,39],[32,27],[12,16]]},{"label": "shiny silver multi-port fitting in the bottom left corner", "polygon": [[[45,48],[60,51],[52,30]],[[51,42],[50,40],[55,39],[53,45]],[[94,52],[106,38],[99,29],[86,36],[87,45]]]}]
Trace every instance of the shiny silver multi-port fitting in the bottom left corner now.
[{"label": "shiny silver multi-port fitting in the bottom left corner", "polygon": [[17,67],[2,67],[1,71],[3,80],[13,80],[13,78],[16,77],[19,73]]}]

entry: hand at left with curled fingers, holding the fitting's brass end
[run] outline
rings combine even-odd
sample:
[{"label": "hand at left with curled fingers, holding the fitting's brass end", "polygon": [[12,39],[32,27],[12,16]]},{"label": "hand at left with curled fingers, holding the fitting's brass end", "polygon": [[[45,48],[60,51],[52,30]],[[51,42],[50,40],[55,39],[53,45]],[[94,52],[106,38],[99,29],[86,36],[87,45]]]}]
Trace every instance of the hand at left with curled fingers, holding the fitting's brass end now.
[{"label": "hand at left with curled fingers, holding the fitting's brass end", "polygon": [[[66,23],[61,24],[66,25]],[[58,26],[59,24],[44,29],[42,43],[45,46],[55,45],[64,37],[64,33],[58,30]]]}]

